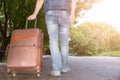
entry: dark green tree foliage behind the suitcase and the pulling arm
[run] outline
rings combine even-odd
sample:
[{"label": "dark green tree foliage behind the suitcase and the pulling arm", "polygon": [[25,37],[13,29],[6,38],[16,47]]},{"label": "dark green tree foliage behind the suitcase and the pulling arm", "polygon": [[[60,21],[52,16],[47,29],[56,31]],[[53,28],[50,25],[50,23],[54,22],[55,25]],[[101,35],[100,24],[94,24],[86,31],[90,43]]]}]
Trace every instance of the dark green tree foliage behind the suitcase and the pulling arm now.
[{"label": "dark green tree foliage behind the suitcase and the pulling arm", "polygon": [[[33,13],[36,0],[0,0],[0,12],[2,12],[3,17],[0,18],[0,31],[2,35],[2,46],[0,55],[5,55],[6,47],[9,44],[11,33],[14,29],[25,28],[26,17]],[[30,21],[29,28],[33,21]],[[45,20],[43,9],[38,15],[37,27],[42,29],[48,45],[48,35],[45,27]],[[1,58],[1,56],[0,56]],[[0,60],[1,61],[1,60]]]}]

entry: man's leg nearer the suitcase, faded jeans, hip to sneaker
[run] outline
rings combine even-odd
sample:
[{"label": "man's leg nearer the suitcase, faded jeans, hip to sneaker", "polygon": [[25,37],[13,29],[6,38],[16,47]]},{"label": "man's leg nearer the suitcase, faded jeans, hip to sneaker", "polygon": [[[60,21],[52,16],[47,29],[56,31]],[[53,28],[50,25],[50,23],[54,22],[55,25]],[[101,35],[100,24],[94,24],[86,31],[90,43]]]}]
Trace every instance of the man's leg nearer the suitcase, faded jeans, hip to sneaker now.
[{"label": "man's leg nearer the suitcase, faded jeans, hip to sneaker", "polygon": [[46,13],[46,24],[49,34],[50,52],[52,59],[52,75],[60,76],[62,61],[58,47],[58,24],[54,11],[48,11]]}]

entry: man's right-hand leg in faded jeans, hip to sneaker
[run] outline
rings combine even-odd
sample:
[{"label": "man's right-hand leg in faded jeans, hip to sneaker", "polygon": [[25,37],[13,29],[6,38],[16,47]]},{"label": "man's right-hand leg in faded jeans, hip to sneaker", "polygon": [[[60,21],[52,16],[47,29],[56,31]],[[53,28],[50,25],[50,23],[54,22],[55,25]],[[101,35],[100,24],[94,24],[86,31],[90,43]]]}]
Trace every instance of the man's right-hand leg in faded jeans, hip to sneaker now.
[{"label": "man's right-hand leg in faded jeans, hip to sneaker", "polygon": [[69,13],[62,11],[59,18],[59,36],[62,55],[62,72],[70,71],[68,66],[69,55]]}]

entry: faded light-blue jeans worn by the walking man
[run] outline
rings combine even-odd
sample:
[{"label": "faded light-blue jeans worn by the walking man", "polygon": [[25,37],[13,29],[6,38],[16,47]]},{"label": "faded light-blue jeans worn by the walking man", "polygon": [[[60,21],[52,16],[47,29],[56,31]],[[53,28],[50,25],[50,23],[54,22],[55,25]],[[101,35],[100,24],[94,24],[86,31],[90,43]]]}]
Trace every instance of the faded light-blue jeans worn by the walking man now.
[{"label": "faded light-blue jeans worn by the walking man", "polygon": [[[49,10],[45,14],[53,71],[68,67],[69,13]],[[59,45],[60,43],[60,45]]]}]

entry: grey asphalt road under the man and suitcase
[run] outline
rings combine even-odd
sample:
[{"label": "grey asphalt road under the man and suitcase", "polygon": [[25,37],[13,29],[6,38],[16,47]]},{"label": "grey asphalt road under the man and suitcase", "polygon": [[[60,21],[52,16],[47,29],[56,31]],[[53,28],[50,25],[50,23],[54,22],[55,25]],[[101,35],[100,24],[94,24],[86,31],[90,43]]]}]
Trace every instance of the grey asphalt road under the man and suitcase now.
[{"label": "grey asphalt road under the man and suitcase", "polygon": [[0,64],[0,80],[120,80],[120,57],[73,57],[70,56],[71,71],[61,77],[50,75],[51,59],[43,58],[40,77],[35,74],[18,74],[13,77],[6,72],[5,64]]}]

